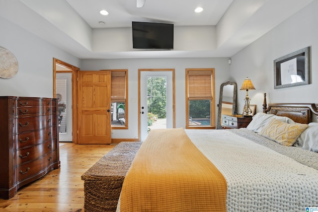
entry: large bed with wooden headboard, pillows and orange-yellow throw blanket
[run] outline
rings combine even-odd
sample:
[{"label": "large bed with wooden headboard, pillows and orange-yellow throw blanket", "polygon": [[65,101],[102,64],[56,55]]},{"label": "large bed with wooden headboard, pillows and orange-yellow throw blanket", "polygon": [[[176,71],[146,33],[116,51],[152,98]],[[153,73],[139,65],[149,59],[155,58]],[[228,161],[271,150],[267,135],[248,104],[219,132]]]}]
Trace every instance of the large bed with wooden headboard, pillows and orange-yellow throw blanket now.
[{"label": "large bed with wooden headboard, pillows and orange-yellow throw blanket", "polygon": [[116,211],[318,207],[316,105],[263,106],[247,128],[151,131],[127,170]]}]

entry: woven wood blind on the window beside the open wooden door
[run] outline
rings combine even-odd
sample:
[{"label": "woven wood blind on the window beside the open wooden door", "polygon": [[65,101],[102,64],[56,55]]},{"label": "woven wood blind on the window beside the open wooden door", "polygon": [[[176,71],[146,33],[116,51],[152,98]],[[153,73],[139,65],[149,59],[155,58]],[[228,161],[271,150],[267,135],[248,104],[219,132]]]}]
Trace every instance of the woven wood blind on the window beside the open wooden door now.
[{"label": "woven wood blind on the window beside the open wooden door", "polygon": [[126,99],[126,76],[125,71],[111,72],[111,100],[124,102]]}]

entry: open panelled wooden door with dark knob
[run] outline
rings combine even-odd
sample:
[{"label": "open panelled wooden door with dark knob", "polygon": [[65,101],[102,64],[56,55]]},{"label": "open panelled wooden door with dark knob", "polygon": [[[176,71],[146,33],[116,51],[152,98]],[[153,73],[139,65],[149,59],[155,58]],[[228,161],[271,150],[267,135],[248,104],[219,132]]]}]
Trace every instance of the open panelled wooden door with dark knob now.
[{"label": "open panelled wooden door with dark knob", "polygon": [[111,72],[79,71],[78,143],[111,143]]}]

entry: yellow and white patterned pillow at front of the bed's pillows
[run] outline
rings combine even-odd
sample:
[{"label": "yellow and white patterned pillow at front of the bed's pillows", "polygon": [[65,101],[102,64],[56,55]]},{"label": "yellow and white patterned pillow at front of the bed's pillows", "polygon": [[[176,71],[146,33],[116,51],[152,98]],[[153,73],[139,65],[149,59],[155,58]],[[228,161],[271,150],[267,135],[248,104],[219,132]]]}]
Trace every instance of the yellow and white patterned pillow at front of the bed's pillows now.
[{"label": "yellow and white patterned pillow at front of the bed's pillows", "polygon": [[308,125],[305,124],[287,124],[272,119],[263,127],[260,134],[282,145],[291,146],[307,128]]}]

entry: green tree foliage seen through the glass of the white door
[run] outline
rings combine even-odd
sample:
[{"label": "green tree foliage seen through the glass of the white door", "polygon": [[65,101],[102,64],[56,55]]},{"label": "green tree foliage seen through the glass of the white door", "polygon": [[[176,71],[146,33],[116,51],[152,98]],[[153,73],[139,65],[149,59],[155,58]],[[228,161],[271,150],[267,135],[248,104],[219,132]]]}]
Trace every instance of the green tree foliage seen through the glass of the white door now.
[{"label": "green tree foliage seen through the glass of the white door", "polygon": [[166,77],[147,77],[148,112],[166,118]]}]

